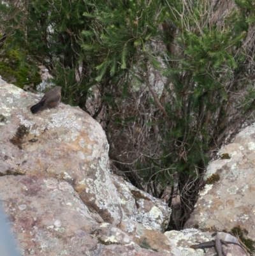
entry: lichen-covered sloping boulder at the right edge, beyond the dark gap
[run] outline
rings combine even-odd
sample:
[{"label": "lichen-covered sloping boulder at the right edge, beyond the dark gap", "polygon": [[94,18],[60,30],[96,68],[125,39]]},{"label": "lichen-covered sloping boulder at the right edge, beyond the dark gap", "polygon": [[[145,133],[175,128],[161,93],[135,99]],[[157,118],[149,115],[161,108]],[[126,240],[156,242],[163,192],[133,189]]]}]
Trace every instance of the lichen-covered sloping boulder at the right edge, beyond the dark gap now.
[{"label": "lichen-covered sloping boulder at the right edge, beyond the dark gap", "polygon": [[[200,192],[191,218],[185,227],[216,230],[240,225],[251,239],[255,237],[255,126],[240,132],[233,143],[222,147],[219,159],[208,165],[205,179],[219,175],[215,184]],[[221,159],[227,158],[227,159]]]}]

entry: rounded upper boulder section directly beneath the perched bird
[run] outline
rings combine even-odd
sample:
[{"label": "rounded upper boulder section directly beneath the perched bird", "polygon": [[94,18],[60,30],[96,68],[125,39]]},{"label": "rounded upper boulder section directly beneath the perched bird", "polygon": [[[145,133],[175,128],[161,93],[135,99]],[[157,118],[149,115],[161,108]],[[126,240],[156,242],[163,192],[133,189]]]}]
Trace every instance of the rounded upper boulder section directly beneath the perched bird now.
[{"label": "rounded upper boulder section directly beneath the perched bird", "polygon": [[[122,211],[107,174],[108,142],[101,126],[82,110],[69,111],[63,104],[33,115],[33,94],[15,86],[1,84],[0,94],[8,120],[1,126],[0,172],[66,180],[98,220],[120,223]],[[27,134],[17,134],[19,127]],[[18,142],[11,144],[13,137]]]}]

